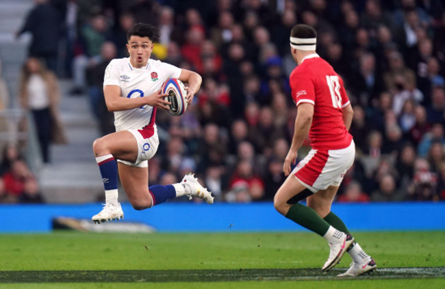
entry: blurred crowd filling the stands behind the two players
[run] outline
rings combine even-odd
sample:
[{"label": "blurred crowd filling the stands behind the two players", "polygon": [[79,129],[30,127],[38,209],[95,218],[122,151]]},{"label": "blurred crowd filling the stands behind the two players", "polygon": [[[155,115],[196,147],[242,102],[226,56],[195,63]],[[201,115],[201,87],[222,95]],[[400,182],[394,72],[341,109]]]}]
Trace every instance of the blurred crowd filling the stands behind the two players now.
[{"label": "blurred crowd filling the stands behind the two players", "polygon": [[[31,32],[29,55],[72,78],[73,95],[87,95],[102,134],[114,131],[103,74],[112,58],[127,57],[133,23],[159,27],[152,58],[202,75],[186,114],[157,115],[162,140],[151,185],[192,171],[217,201],[272,200],[296,116],[290,29],[305,23],[318,32],[317,53],[343,77],[355,111],[356,161],[338,201],[445,199],[442,0],[36,3],[18,34]],[[298,159],[309,149],[307,140]]]}]

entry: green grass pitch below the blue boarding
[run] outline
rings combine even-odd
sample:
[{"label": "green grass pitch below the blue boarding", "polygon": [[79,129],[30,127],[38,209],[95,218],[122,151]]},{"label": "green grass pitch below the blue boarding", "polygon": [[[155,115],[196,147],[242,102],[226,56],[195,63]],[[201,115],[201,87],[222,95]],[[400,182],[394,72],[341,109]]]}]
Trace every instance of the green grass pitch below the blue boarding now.
[{"label": "green grass pitch below the blue boarding", "polygon": [[378,269],[328,273],[311,233],[0,235],[0,288],[445,288],[445,231],[367,232]]}]

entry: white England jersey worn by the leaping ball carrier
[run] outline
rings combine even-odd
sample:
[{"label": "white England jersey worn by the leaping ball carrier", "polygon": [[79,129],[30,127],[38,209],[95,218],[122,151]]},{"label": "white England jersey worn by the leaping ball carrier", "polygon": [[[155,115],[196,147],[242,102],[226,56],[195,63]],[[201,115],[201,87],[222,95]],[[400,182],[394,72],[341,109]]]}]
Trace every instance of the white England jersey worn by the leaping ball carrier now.
[{"label": "white England jersey worn by the leaping ball carrier", "polygon": [[[168,78],[179,78],[181,68],[149,59],[142,68],[131,66],[130,58],[114,59],[105,69],[103,86],[120,86],[120,97],[147,97],[161,89]],[[144,105],[133,110],[114,112],[116,131],[155,126],[155,108]],[[153,119],[152,119],[153,116]]]}]

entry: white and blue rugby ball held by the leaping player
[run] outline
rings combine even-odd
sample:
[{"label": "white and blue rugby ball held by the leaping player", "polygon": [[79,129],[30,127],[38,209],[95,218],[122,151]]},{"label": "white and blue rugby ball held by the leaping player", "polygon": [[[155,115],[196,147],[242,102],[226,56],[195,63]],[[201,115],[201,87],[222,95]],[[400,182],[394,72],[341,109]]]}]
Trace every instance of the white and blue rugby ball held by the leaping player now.
[{"label": "white and blue rugby ball held by the leaping player", "polygon": [[180,116],[187,110],[186,86],[177,78],[169,78],[162,84],[162,93],[168,94],[164,99],[169,101],[170,109],[168,113],[174,116]]}]

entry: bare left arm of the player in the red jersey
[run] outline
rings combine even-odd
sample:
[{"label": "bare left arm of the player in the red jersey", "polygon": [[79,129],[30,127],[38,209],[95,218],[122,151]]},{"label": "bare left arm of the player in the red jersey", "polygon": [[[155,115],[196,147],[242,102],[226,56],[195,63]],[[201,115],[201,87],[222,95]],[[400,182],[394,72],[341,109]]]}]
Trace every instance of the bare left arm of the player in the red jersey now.
[{"label": "bare left arm of the player in the red jersey", "polygon": [[312,125],[312,117],[314,116],[314,105],[311,103],[301,103],[298,105],[298,110],[295,118],[295,131],[292,138],[292,145],[288,155],[284,160],[283,172],[287,176],[292,171],[291,164],[295,164],[296,156],[298,155],[298,149],[303,145],[309,129]]}]

